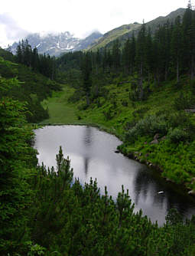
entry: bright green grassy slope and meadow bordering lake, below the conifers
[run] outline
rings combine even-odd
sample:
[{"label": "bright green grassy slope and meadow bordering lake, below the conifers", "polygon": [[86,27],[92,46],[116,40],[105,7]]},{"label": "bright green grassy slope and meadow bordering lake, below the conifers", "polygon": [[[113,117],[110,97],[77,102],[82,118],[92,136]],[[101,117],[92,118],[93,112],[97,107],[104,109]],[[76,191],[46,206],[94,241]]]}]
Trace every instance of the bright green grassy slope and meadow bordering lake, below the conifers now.
[{"label": "bright green grassy slope and meadow bordering lake, below the conifers", "polygon": [[[195,116],[193,112],[176,110],[175,107],[180,101],[180,95],[191,94],[192,86],[188,78],[183,77],[180,87],[174,81],[161,84],[161,87],[151,84],[148,98],[137,102],[131,100],[134,79],[128,77],[128,82],[122,82],[121,77],[112,79],[112,84],[104,87],[107,93],[87,108],[84,97],[71,103],[69,98],[74,89],[63,85],[63,91],[44,100],[50,118],[42,124],[78,123],[99,126],[122,139],[124,143],[120,150],[125,155],[159,169],[164,178],[194,189],[195,143],[193,139],[185,138],[185,130],[189,126],[193,133]],[[147,123],[150,120],[152,123]],[[158,128],[150,127],[155,123]],[[164,129],[167,129],[166,136],[161,133]],[[151,143],[156,133],[159,133],[158,143]],[[131,134],[135,139],[131,139]]]}]

